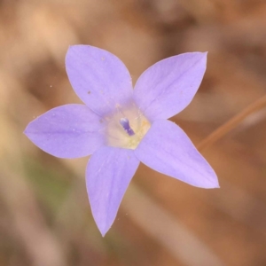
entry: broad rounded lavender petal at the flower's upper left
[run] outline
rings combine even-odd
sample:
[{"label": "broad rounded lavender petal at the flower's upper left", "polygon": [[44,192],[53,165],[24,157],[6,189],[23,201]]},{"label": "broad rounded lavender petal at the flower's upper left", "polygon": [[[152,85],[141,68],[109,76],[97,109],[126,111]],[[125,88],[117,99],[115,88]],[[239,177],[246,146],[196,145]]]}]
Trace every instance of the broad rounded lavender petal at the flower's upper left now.
[{"label": "broad rounded lavender petal at the flower's upper left", "polygon": [[70,46],[66,73],[75,93],[99,115],[112,113],[132,98],[127,67],[112,53],[89,45]]}]

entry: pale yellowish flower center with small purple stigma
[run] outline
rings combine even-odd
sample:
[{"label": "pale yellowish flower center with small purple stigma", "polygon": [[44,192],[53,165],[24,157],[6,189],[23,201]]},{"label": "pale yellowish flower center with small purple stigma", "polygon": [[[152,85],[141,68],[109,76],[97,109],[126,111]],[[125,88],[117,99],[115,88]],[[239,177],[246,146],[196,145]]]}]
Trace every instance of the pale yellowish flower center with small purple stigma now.
[{"label": "pale yellowish flower center with small purple stigma", "polygon": [[136,104],[115,106],[115,112],[106,118],[106,142],[113,147],[135,150],[151,124]]}]

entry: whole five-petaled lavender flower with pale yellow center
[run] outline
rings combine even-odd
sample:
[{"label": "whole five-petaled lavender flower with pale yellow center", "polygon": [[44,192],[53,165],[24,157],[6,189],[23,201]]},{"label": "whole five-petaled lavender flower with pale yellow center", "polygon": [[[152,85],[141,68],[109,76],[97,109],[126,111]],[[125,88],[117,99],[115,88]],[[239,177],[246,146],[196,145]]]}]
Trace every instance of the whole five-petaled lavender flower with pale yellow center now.
[{"label": "whole five-petaled lavender flower with pale yellow center", "polygon": [[53,108],[30,122],[25,134],[60,158],[92,154],[86,185],[103,236],[140,161],[194,186],[219,187],[189,137],[168,121],[192,101],[206,62],[206,52],[163,59],[139,77],[133,90],[128,69],[112,53],[88,45],[67,51],[66,72],[85,105]]}]

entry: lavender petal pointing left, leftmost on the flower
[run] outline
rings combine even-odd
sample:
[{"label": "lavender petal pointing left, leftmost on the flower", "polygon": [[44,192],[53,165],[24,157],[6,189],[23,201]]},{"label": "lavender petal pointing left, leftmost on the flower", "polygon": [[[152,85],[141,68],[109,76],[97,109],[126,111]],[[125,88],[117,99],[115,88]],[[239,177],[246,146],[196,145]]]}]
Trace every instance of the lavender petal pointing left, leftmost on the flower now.
[{"label": "lavender petal pointing left, leftmost on the flower", "polygon": [[24,133],[44,152],[60,158],[94,153],[104,144],[105,123],[88,106],[66,105],[31,121]]}]

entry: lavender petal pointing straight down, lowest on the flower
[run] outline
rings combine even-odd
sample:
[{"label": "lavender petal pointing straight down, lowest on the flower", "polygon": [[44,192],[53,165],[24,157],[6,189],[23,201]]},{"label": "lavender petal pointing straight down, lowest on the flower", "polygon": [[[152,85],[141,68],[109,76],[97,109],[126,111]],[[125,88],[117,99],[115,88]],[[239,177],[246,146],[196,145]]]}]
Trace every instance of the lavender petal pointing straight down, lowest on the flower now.
[{"label": "lavender petal pointing straight down, lowest on the flower", "polygon": [[105,146],[90,157],[86,171],[87,192],[92,215],[103,236],[113,224],[138,165],[133,150],[128,149]]}]

